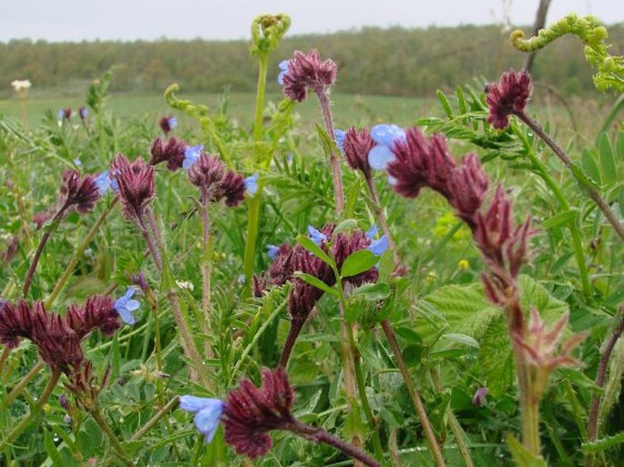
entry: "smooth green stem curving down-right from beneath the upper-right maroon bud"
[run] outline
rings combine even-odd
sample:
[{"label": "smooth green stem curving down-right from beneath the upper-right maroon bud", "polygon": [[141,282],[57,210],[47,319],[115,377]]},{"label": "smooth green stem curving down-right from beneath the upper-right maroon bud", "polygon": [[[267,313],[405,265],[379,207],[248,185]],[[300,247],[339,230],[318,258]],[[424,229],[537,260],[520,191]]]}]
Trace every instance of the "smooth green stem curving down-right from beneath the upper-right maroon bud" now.
[{"label": "smooth green stem curving down-right from beneath the upper-right maroon bud", "polygon": [[[544,180],[544,183],[547,184],[547,187],[555,195],[557,198],[559,206],[564,210],[568,211],[570,206],[568,204],[568,198],[564,195],[561,188],[558,186],[557,182],[550,177],[550,174],[547,171],[546,166],[542,163],[541,160],[536,156],[535,152],[527,141],[525,135],[514,125],[512,125],[514,132],[517,137],[520,138],[525,148],[527,149],[527,157],[533,164],[533,166],[537,169],[537,175]],[[580,276],[581,286],[583,287],[583,294],[587,297],[591,297],[591,284],[589,282],[589,274],[588,274],[588,266],[587,261],[585,259],[585,252],[583,251],[583,241],[581,239],[580,230],[576,224],[574,219],[568,222],[568,228],[570,234],[572,236],[572,248],[574,249],[575,258],[577,259],[578,266],[578,275]]]}]

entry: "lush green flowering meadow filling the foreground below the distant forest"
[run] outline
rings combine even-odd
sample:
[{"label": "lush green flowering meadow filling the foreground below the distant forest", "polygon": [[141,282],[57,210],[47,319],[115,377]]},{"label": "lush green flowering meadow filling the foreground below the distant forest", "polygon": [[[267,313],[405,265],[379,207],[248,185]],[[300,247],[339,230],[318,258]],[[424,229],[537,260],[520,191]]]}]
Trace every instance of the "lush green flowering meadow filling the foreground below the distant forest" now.
[{"label": "lush green flowering meadow filling the foreground below the distant forest", "polygon": [[538,41],[588,46],[602,92],[562,99],[350,94],[312,43],[272,66],[289,25],[254,21],[257,92],[0,100],[0,465],[619,465],[602,26]]}]

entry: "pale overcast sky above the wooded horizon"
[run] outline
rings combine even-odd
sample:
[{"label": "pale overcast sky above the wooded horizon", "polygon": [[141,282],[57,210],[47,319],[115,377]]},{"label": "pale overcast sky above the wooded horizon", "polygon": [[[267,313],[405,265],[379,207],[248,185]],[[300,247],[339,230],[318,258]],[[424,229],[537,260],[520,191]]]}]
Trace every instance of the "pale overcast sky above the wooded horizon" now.
[{"label": "pale overcast sky above the wooded horizon", "polygon": [[[291,15],[289,35],[363,25],[533,23],[538,0],[0,0],[0,41],[240,39],[254,16]],[[552,0],[548,22],[569,12],[624,21],[622,0]]]}]

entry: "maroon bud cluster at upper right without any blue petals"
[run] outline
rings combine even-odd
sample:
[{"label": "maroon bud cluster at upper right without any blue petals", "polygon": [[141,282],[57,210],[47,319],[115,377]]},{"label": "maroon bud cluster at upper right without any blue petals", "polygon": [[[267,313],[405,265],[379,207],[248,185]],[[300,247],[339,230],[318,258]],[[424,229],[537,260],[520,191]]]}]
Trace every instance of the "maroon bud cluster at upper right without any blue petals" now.
[{"label": "maroon bud cluster at upper right without any blue petals", "polygon": [[486,87],[487,121],[497,129],[506,128],[509,116],[524,112],[530,96],[531,76],[526,70],[516,72],[511,69],[503,73],[497,83]]}]

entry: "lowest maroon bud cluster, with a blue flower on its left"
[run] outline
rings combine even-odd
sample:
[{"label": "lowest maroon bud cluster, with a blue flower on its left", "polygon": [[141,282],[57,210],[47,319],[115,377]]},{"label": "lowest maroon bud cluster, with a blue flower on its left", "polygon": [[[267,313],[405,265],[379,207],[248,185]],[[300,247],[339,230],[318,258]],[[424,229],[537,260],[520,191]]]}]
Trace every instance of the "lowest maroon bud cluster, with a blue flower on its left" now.
[{"label": "lowest maroon bud cluster, with a blue flower on its left", "polygon": [[249,380],[230,391],[223,411],[225,442],[237,453],[251,459],[271,450],[271,430],[288,430],[294,423],[294,391],[286,371],[264,369],[262,385],[256,388]]}]

